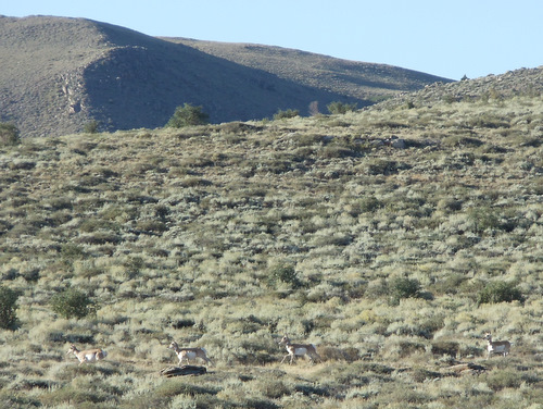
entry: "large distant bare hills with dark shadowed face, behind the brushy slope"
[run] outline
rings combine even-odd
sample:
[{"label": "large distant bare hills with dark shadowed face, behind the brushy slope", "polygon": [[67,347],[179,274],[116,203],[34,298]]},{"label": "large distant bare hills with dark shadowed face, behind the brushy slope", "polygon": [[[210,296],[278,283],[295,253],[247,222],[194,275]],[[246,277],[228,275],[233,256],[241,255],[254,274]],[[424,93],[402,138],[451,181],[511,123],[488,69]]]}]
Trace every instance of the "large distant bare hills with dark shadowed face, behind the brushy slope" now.
[{"label": "large distant bare hills with dark shadowed face, behind the brushy slope", "polygon": [[[305,114],[312,101],[364,107],[443,79],[265,46],[251,46],[243,63],[250,46],[185,42],[81,18],[0,17],[0,121],[24,136],[80,132],[91,121],[104,131],[154,128],[185,102],[213,123],[245,121],[279,109]],[[292,62],[300,55],[314,61],[310,71]]]}]

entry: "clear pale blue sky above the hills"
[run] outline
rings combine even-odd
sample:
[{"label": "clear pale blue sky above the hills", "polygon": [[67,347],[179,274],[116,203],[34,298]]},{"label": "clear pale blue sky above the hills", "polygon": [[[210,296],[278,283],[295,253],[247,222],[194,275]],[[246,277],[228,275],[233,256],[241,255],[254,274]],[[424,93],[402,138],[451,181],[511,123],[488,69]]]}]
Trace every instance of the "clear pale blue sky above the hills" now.
[{"label": "clear pale blue sky above the hills", "polygon": [[[251,42],[451,79],[543,65],[543,0],[12,0],[0,15],[85,17],[151,36]],[[540,51],[538,51],[540,50]]]}]

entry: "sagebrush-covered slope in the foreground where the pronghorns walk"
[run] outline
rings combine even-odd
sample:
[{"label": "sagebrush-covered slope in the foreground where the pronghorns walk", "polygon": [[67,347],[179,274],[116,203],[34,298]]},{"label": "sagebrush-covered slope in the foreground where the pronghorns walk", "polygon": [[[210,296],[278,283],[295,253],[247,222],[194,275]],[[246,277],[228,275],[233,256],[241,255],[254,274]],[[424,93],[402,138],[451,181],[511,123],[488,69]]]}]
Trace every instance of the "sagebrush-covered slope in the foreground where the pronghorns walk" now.
[{"label": "sagebrush-covered slope in the foreground where the pronghorns walk", "polygon": [[542,408],[543,99],[409,108],[0,148],[0,406]]}]

